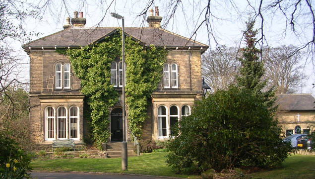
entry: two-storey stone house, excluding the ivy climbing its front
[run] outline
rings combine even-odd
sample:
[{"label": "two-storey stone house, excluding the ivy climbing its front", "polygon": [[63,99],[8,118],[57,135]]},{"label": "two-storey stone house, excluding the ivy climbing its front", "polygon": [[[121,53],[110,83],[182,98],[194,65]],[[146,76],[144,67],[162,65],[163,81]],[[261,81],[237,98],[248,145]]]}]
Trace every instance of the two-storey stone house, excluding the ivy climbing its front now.
[{"label": "two-storey stone house, excluding the ivy climbing its front", "polygon": [[[164,140],[170,135],[170,127],[183,115],[189,115],[195,100],[203,95],[201,80],[201,54],[207,45],[162,29],[162,17],[147,18],[148,27],[125,27],[125,34],[144,46],[154,44],[164,47],[167,61],[158,88],[152,93],[152,104],[147,109],[149,118],[142,128],[143,139]],[[73,139],[83,142],[88,134],[83,118],[84,95],[80,92],[80,79],[72,69],[67,56],[56,52],[57,48],[80,48],[101,42],[120,27],[84,27],[83,12],[66,19],[62,31],[31,41],[22,47],[30,58],[30,121],[32,141],[51,144],[53,140]],[[121,61],[111,65],[111,83],[122,94]],[[122,140],[122,97],[110,109],[110,141]],[[127,123],[128,111],[126,111]],[[127,125],[126,125],[127,126]],[[126,128],[127,140],[130,131]]]}]

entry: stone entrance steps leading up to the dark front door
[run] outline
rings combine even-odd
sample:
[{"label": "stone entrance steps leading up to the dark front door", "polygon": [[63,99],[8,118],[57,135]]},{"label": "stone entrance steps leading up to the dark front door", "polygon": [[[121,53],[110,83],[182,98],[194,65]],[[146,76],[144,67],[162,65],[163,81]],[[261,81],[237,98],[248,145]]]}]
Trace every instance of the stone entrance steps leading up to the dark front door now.
[{"label": "stone entrance steps leading up to the dark front door", "polygon": [[[122,143],[121,142],[108,142],[106,143],[106,153],[108,158],[122,157]],[[128,157],[137,156],[133,152],[133,143],[127,143]]]}]

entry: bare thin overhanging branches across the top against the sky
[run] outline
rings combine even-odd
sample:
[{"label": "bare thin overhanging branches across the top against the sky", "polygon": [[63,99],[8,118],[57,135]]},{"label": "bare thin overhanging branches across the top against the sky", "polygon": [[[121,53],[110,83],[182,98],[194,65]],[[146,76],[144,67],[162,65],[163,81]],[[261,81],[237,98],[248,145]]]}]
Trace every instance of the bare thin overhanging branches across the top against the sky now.
[{"label": "bare thin overhanging branches across the top against the sky", "polygon": [[[133,20],[138,20],[137,26],[145,26],[148,10],[159,5],[160,10],[163,10],[162,28],[177,29],[177,25],[184,25],[192,40],[196,39],[197,35],[203,36],[207,33],[208,43],[214,49],[216,47],[212,47],[213,45],[224,44],[222,37],[225,34],[217,30],[218,26],[224,23],[245,24],[250,15],[251,20],[259,24],[260,32],[256,43],[261,50],[268,47],[269,41],[274,38],[280,41],[289,37],[297,42],[295,52],[305,49],[309,57],[306,60],[314,61],[315,57],[314,0],[78,0],[76,3],[71,0],[38,1],[36,7],[41,9],[41,14],[50,11],[50,16],[53,17],[62,14],[71,16],[73,8],[94,12],[95,8],[89,7],[91,4],[97,4],[96,8],[99,8],[101,15],[95,26],[106,22],[106,16],[109,16],[109,11],[113,9],[123,9],[124,13],[135,16]],[[139,9],[140,5],[142,7]],[[233,40],[240,44],[242,42],[242,39]]]}]

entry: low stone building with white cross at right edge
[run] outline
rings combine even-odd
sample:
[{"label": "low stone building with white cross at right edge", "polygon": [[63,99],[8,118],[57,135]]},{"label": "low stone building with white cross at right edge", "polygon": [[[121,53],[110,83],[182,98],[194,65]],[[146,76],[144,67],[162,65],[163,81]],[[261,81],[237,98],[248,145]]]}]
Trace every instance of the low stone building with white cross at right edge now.
[{"label": "low stone building with white cross at right edge", "polygon": [[315,127],[315,99],[311,94],[279,94],[276,117],[287,135],[310,134]]}]

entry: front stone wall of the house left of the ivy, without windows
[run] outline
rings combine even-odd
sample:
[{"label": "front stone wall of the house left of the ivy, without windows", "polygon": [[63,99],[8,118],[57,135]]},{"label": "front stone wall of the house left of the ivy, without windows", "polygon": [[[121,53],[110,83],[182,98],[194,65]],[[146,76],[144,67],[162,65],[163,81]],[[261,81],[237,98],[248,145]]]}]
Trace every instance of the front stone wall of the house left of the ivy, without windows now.
[{"label": "front stone wall of the house left of the ivy, without windows", "polygon": [[70,89],[55,89],[57,63],[70,63],[68,58],[55,50],[31,50],[30,56],[30,123],[31,140],[46,144],[44,136],[44,109],[52,106],[56,110],[64,106],[67,110],[75,105],[79,108],[80,141],[83,137],[83,95],[79,92],[80,80],[70,72]]}]

